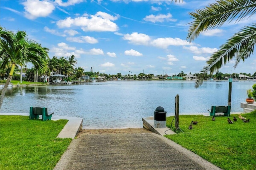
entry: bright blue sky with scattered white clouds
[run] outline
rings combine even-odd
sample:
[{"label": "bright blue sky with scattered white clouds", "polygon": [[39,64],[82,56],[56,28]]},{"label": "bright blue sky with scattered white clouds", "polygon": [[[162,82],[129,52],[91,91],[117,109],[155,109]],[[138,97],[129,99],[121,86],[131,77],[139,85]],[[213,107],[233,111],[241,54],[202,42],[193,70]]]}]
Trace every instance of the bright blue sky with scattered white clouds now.
[{"label": "bright blue sky with scattered white clouds", "polygon": [[[177,75],[200,72],[210,55],[256,17],[186,38],[190,12],[215,0],[0,0],[0,26],[26,31],[49,57],[77,59],[76,67],[105,74]],[[31,65],[28,64],[28,68]],[[256,57],[223,73],[256,72]]]}]

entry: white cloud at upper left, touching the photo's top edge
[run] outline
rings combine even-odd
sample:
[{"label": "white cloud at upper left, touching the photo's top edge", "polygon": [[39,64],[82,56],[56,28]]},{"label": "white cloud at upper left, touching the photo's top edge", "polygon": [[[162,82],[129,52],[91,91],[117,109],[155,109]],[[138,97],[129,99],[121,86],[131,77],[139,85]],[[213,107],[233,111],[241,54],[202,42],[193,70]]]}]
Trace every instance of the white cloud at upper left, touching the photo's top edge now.
[{"label": "white cloud at upper left, touching the photo's top edge", "polygon": [[27,0],[22,2],[25,9],[25,17],[34,20],[38,17],[49,16],[55,9],[54,5],[50,1],[39,1],[39,0]]}]

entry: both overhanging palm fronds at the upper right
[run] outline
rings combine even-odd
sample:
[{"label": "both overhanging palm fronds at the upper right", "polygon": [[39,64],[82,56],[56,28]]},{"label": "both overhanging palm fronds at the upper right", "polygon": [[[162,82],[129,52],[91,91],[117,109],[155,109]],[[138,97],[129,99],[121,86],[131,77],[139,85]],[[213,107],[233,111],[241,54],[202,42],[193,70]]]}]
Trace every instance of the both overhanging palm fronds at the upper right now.
[{"label": "both overhanging palm fronds at the upper right", "polygon": [[[193,41],[203,31],[218,28],[224,23],[236,20],[236,23],[254,17],[256,1],[252,0],[219,0],[201,10],[191,12],[193,21],[188,30],[188,41]],[[244,26],[230,37],[220,49],[211,55],[201,72],[210,74],[216,72],[226,63],[235,59],[234,68],[254,53],[256,43],[256,23]],[[201,74],[204,75],[204,74]],[[195,88],[202,85],[204,77],[199,77]]]}]

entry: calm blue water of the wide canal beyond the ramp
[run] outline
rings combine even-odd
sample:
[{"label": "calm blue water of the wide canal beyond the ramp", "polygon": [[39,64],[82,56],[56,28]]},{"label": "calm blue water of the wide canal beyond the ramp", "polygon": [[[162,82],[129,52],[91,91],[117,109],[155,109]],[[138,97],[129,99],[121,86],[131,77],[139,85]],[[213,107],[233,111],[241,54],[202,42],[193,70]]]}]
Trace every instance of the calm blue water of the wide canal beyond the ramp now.
[{"label": "calm blue water of the wide canal beyond the ramp", "polygon": [[[240,103],[255,81],[232,83],[231,111],[242,112]],[[228,81],[109,81],[81,85],[25,86],[6,92],[1,112],[29,113],[30,106],[47,107],[54,115],[82,117],[83,128],[142,127],[142,118],[154,116],[158,106],[174,115],[175,96],[180,114],[207,113],[211,106],[228,105]]]}]

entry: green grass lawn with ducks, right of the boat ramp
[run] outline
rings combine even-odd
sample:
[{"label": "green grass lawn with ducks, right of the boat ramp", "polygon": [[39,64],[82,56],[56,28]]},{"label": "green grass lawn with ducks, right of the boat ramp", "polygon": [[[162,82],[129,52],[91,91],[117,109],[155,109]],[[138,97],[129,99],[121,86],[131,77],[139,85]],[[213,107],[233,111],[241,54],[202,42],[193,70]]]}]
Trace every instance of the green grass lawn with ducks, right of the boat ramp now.
[{"label": "green grass lawn with ducks, right of the boat ramp", "polygon": [[[229,124],[226,116],[212,117],[204,115],[180,115],[179,126],[182,131],[175,135],[166,135],[168,139],[191,150],[202,158],[224,170],[256,169],[256,111],[242,114],[250,119],[244,123],[237,121]],[[167,117],[167,127],[175,130],[172,117]],[[191,121],[198,121],[193,129],[188,129]],[[174,128],[172,128],[174,127]]]}]

